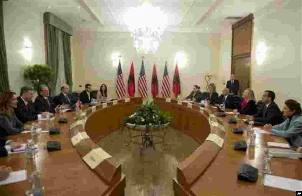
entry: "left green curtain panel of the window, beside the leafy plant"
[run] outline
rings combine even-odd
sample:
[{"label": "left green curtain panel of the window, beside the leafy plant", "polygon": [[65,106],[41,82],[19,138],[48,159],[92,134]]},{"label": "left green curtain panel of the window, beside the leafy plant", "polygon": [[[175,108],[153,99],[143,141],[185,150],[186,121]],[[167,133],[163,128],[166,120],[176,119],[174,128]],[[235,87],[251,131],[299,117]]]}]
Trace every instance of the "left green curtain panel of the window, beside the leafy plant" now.
[{"label": "left green curtain panel of the window, beside the leafy plant", "polygon": [[47,65],[55,72],[50,91],[51,93],[55,93],[59,72],[59,29],[50,24],[45,25],[47,37]]}]

